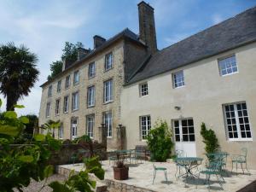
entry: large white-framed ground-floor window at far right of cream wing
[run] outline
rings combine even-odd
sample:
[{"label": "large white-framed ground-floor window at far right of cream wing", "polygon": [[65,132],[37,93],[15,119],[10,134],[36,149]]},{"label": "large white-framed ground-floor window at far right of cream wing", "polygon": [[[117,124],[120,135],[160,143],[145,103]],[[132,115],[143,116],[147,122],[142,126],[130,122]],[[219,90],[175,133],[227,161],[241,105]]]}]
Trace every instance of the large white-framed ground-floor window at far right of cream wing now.
[{"label": "large white-framed ground-floor window at far right of cream wing", "polygon": [[224,119],[230,141],[252,140],[246,102],[224,105]]}]

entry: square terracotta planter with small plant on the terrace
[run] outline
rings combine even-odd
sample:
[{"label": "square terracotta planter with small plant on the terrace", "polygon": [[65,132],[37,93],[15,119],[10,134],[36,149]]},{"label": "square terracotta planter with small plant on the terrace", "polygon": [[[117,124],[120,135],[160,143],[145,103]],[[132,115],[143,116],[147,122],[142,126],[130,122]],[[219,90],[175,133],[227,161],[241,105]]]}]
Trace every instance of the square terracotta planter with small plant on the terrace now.
[{"label": "square terracotta planter with small plant on the terrace", "polygon": [[125,180],[129,177],[129,166],[125,166],[124,160],[119,158],[117,154],[117,161],[113,166],[113,178],[116,180]]}]

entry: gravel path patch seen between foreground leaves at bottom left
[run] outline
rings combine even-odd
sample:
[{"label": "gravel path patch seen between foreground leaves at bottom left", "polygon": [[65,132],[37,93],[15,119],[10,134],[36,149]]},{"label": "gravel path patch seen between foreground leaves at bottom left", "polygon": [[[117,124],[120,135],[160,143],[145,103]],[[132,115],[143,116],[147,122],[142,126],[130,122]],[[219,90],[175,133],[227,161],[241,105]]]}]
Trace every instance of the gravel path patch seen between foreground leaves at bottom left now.
[{"label": "gravel path patch seen between foreground leaves at bottom left", "polygon": [[[53,181],[63,181],[66,178],[67,177],[65,177],[65,176],[55,174],[47,179],[47,183],[51,183]],[[32,180],[31,183],[26,188],[23,188],[23,191],[24,192],[38,192],[38,190],[43,185],[44,185],[44,180],[41,182],[36,182],[35,180]],[[40,192],[50,192],[50,191],[52,191],[52,189],[50,187],[46,186]],[[18,190],[15,189],[15,192],[18,192]]]}]

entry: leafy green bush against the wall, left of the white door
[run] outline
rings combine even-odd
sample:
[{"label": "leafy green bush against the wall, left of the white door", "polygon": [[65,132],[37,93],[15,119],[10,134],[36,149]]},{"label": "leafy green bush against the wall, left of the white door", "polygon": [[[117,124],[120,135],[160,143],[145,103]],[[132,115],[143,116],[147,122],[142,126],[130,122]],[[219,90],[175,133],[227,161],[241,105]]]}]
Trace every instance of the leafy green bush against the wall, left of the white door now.
[{"label": "leafy green bush against the wall, left of the white door", "polygon": [[172,134],[166,121],[158,121],[147,137],[148,149],[152,160],[166,161],[172,153]]}]

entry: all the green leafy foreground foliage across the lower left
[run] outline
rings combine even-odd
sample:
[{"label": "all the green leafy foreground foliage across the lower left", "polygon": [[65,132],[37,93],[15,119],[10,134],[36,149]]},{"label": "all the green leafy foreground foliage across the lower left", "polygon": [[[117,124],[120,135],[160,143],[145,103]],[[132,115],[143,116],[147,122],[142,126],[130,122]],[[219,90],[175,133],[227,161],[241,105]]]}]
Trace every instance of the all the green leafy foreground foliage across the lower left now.
[{"label": "all the green leafy foreground foliage across the lower left", "polygon": [[[1,105],[1,100],[0,100]],[[17,106],[16,106],[17,107]],[[26,144],[13,146],[17,137],[26,128],[29,119],[17,117],[14,111],[1,114],[0,118],[0,190],[4,192],[18,189],[29,185],[31,179],[45,182],[53,174],[54,166],[49,165],[51,152],[61,148],[61,142],[51,137],[51,134],[35,134],[32,140]],[[58,122],[51,121],[46,128],[55,129]],[[91,180],[89,174],[103,179],[104,171],[97,158],[84,160],[85,171],[72,174],[65,183],[53,182],[49,186],[54,191],[92,191],[96,188],[96,182]],[[40,189],[40,190],[41,190]],[[39,190],[39,191],[40,191]]]}]

